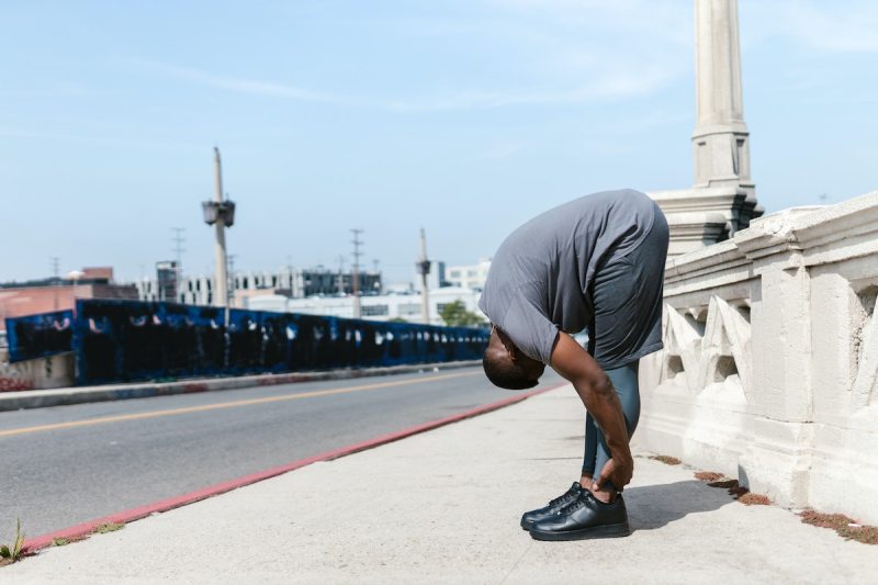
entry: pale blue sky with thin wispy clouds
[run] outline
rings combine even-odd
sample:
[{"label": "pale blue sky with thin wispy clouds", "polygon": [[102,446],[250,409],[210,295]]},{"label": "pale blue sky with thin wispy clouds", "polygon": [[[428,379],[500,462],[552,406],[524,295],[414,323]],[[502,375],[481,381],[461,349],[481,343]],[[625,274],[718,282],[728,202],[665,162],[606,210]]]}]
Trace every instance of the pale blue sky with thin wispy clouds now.
[{"label": "pale blue sky with thin wispy clouds", "polygon": [[[745,119],[770,212],[878,189],[878,2],[741,0]],[[0,7],[0,280],[172,258],[212,272],[212,148],[236,266],[365,259],[418,228],[470,263],[593,191],[688,187],[689,0]]]}]

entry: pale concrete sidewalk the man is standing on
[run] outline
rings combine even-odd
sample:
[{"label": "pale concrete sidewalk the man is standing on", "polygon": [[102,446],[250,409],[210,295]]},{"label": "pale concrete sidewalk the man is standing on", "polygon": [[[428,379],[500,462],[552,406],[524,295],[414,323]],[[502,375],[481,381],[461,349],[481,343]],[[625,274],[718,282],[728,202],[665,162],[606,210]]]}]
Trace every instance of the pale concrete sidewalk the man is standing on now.
[{"label": "pale concrete sidewalk the man is standing on", "polygon": [[[624,539],[538,542],[581,464],[570,389],[50,548],[19,583],[875,583],[878,548],[639,452]],[[184,470],[175,470],[184,473]]]}]

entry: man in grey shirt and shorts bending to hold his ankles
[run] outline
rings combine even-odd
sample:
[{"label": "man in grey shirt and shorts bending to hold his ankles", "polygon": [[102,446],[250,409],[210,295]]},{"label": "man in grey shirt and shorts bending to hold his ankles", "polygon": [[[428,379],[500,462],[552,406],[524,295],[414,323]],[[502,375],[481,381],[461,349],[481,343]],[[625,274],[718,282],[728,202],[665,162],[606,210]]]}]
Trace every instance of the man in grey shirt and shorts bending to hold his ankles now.
[{"label": "man in grey shirt and shorts bending to hold his ankles", "polygon": [[[521,517],[536,539],[629,533],[621,491],[634,468],[628,442],[640,417],[638,364],[662,349],[667,244],[655,202],[607,191],[534,217],[494,256],[479,301],[493,325],[485,374],[521,390],[536,386],[549,364],[587,410],[579,481]],[[584,329],[587,352],[570,335]]]}]

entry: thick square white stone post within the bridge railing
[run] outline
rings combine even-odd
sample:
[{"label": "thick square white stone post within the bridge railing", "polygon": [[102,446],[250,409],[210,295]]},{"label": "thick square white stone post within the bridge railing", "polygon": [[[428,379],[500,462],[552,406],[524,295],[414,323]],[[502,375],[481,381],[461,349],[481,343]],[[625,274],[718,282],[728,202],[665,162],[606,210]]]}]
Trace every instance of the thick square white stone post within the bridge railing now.
[{"label": "thick square white stone post within the bridge railing", "polygon": [[739,480],[785,506],[809,500],[813,451],[810,274],[792,222],[797,210],[735,236],[753,261],[753,441],[739,460]]}]

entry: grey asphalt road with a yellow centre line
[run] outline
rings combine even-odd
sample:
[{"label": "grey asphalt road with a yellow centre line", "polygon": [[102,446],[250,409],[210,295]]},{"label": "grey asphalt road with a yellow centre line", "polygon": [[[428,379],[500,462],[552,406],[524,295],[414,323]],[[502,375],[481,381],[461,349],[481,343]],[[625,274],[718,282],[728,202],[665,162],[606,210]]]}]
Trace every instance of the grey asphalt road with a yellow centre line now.
[{"label": "grey asphalt road with a yellow centre line", "polygon": [[508,396],[469,368],[0,413],[0,542],[15,518],[34,537]]}]

